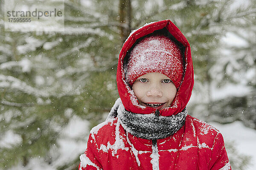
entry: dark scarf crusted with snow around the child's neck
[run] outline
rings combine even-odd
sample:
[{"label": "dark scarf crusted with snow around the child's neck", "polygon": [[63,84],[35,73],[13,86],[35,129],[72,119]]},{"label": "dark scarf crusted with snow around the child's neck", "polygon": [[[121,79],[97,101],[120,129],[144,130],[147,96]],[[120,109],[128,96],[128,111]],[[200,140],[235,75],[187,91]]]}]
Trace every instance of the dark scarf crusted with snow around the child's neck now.
[{"label": "dark scarf crusted with snow around the child's neck", "polygon": [[122,102],[116,101],[107,119],[116,116],[121,121],[121,125],[132,135],[142,139],[164,139],[176,133],[186,120],[187,109],[172,116],[159,116],[155,120],[154,113],[138,114],[126,111]]}]

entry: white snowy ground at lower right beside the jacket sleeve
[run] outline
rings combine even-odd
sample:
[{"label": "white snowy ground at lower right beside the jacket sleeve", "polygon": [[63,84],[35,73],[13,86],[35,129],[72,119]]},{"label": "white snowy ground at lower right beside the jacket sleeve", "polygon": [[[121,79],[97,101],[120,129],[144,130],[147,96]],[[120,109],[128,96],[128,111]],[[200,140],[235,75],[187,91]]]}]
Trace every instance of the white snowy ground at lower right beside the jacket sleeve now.
[{"label": "white snowy ground at lower right beside the jacket sleeve", "polygon": [[251,156],[251,164],[247,170],[256,170],[256,130],[245,127],[239,121],[225,125],[216,122],[210,124],[220,130],[224,141],[232,142],[239,153]]}]

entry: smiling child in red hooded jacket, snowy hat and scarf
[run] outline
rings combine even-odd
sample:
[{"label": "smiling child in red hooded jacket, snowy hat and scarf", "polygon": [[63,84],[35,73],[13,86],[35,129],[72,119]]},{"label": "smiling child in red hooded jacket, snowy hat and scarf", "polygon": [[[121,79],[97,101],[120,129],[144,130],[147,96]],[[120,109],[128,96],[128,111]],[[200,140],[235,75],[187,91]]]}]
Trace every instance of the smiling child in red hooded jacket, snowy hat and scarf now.
[{"label": "smiling child in red hooded jacket, snowy hat and scarf", "polygon": [[221,133],[187,115],[191,51],[170,20],[130,34],[116,81],[120,98],[90,131],[79,170],[231,170]]}]

